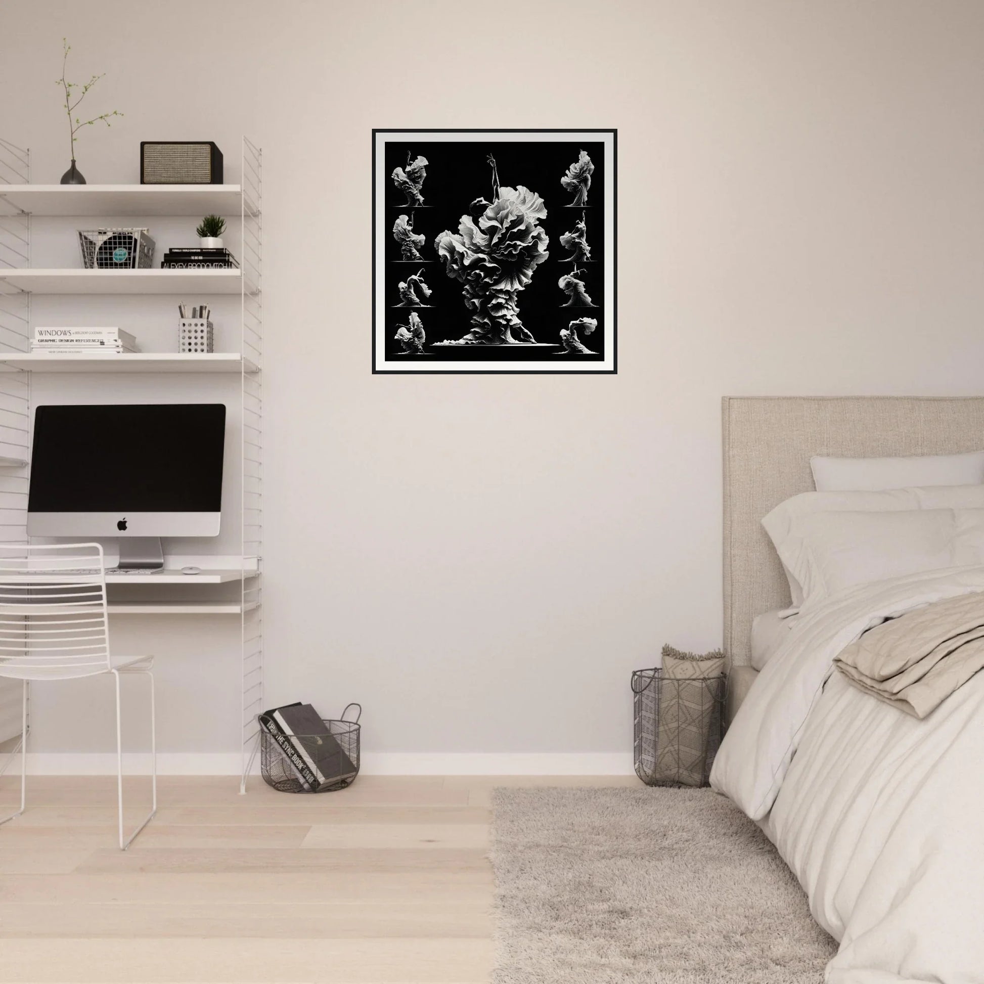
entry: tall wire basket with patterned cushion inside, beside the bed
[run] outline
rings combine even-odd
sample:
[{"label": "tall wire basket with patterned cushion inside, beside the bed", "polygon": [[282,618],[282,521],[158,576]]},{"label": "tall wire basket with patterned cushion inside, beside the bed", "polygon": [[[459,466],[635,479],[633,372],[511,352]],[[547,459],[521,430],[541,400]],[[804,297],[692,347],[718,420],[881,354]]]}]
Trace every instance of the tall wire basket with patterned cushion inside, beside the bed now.
[{"label": "tall wire basket with patterned cushion inside, beside the bed", "polygon": [[724,677],[632,674],[636,774],[649,786],[706,786],[721,744]]}]

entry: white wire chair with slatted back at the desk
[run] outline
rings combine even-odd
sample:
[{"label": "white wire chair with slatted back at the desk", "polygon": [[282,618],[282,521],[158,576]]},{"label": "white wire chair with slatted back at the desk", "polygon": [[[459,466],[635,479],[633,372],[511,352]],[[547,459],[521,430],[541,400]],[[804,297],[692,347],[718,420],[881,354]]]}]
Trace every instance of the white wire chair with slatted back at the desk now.
[{"label": "white wire chair with slatted back at the desk", "polygon": [[[0,543],[0,677],[24,681],[21,729],[21,809],[27,804],[28,687],[32,681],[75,680],[111,673],[116,682],[117,812],[126,850],[157,812],[153,656],[113,659],[106,611],[106,563],[98,543]],[[151,683],[152,809],[125,837],[120,674],[143,673]],[[15,752],[17,749],[14,750]],[[13,755],[14,753],[12,753]]]}]

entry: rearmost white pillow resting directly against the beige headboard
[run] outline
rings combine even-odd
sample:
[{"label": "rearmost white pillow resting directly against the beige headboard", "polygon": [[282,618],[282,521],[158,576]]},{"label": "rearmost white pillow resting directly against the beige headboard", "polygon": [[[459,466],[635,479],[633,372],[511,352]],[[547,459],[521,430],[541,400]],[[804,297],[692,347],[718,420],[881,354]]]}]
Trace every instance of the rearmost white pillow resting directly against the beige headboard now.
[{"label": "rearmost white pillow resting directly against the beige headboard", "polygon": [[913,485],[980,485],[984,451],[912,458],[810,459],[818,492],[877,491]]}]

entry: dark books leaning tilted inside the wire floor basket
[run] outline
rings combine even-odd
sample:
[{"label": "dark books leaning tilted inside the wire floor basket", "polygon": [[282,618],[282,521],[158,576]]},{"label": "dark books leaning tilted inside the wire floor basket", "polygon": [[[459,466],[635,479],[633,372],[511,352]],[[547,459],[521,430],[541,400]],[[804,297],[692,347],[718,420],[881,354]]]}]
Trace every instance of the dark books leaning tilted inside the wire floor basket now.
[{"label": "dark books leaning tilted inside the wire floor basket", "polygon": [[273,707],[261,726],[277,742],[305,790],[320,792],[352,778],[358,769],[310,704]]}]

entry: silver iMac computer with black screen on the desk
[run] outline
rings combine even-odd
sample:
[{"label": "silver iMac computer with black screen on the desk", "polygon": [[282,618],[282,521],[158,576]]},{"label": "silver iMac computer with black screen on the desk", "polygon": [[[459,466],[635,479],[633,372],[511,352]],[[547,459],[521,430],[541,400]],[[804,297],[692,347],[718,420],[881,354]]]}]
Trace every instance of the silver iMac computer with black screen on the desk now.
[{"label": "silver iMac computer with black screen on the desk", "polygon": [[28,535],[114,537],[120,570],[163,567],[161,536],[217,536],[222,403],[38,406]]}]

